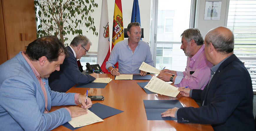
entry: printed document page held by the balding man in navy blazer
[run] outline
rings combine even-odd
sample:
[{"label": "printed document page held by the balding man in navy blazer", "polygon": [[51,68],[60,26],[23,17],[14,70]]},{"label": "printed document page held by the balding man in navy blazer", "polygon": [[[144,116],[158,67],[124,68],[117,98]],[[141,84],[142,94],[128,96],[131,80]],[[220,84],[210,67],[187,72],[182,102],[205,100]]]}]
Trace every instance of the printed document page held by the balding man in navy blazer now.
[{"label": "printed document page held by the balding man in navy blazer", "polygon": [[151,92],[176,97],[179,94],[178,88],[164,82],[163,80],[153,76],[148,84],[144,87]]}]

